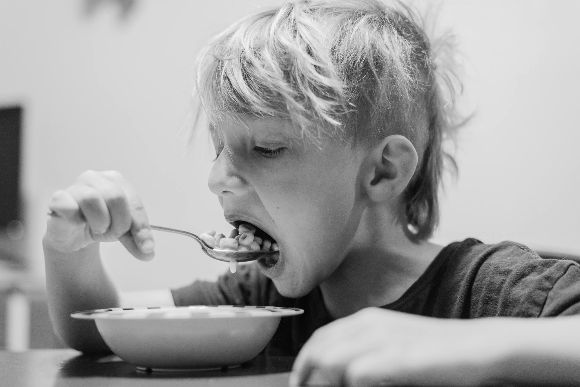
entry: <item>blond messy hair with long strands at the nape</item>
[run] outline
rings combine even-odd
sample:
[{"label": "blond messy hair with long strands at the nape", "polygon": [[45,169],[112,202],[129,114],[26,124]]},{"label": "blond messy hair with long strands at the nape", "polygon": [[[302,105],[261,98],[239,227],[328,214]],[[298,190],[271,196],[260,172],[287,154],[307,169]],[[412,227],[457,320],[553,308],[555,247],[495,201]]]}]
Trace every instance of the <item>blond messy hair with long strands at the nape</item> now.
[{"label": "blond messy hair with long strands at the nape", "polygon": [[196,94],[209,125],[276,117],[314,143],[407,137],[419,166],[404,192],[404,218],[411,236],[425,240],[438,224],[445,159],[456,169],[442,147],[458,127],[453,74],[438,63],[452,57],[440,50],[447,43],[430,42],[422,19],[400,2],[287,1],[208,43]]}]

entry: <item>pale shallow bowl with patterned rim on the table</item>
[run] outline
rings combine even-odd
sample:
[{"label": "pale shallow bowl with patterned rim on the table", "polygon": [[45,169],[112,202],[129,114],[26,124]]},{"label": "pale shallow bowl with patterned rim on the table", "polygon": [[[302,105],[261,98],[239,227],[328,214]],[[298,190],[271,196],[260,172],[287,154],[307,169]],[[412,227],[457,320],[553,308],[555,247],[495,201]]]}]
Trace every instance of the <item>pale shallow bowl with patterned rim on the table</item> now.
[{"label": "pale shallow bowl with patterned rim on the table", "polygon": [[258,355],[281,317],[278,306],[168,306],[75,312],[95,320],[111,351],[138,368],[191,370],[237,366]]}]

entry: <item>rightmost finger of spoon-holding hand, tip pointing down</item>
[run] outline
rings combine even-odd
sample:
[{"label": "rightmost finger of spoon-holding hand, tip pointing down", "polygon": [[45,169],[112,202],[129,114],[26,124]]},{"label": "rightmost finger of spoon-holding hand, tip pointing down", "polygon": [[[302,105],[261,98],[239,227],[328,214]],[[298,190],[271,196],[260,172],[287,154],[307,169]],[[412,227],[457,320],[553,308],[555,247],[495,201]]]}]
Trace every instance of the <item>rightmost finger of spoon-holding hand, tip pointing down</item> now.
[{"label": "rightmost finger of spoon-holding hand, tip pointing down", "polygon": [[125,181],[121,174],[115,171],[105,171],[103,174],[118,182],[128,198],[129,211],[131,211],[132,218],[131,228],[128,233],[119,237],[119,240],[129,253],[136,258],[144,261],[151,260],[154,256],[155,242],[143,202],[135,192],[135,189]]}]

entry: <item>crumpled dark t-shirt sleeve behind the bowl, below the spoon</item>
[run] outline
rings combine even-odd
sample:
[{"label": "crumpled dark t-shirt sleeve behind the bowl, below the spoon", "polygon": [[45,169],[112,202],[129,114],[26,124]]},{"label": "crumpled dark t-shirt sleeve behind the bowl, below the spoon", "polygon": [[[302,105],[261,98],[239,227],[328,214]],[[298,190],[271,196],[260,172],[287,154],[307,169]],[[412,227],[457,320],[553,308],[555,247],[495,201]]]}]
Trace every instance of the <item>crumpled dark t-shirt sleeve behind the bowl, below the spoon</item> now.
[{"label": "crumpled dark t-shirt sleeve behind the bowl, below the spoon", "polygon": [[252,264],[238,265],[235,273],[226,272],[216,282],[195,281],[172,289],[175,305],[274,305],[276,288]]}]

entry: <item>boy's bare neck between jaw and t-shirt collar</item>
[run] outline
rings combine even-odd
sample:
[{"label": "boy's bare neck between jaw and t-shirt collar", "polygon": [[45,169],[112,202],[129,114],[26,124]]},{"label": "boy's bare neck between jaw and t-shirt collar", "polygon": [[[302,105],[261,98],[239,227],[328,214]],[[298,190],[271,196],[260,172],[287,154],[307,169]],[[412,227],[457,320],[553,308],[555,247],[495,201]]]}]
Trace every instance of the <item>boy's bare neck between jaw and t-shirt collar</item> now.
[{"label": "boy's bare neck between jaw and t-shirt collar", "polygon": [[409,240],[387,211],[368,209],[342,264],[320,285],[334,319],[398,300],[443,246]]}]

